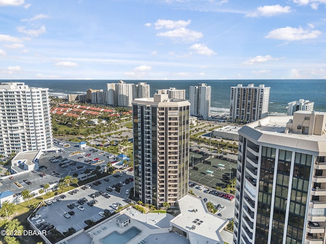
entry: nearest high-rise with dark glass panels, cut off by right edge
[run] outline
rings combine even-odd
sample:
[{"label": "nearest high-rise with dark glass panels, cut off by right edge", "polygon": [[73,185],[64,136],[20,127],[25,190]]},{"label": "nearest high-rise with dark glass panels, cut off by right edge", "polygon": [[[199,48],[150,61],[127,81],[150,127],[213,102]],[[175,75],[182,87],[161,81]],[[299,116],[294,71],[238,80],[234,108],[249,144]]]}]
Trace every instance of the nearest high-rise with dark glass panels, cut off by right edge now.
[{"label": "nearest high-rise with dark glass panels, cut off by right edge", "polygon": [[326,113],[239,130],[233,243],[325,243]]}]

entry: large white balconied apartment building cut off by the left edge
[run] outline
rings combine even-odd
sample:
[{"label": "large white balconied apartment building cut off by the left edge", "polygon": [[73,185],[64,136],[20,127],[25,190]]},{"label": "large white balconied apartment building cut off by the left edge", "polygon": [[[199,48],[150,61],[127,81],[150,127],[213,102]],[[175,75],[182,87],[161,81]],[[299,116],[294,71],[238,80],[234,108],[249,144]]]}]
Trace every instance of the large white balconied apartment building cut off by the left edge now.
[{"label": "large white balconied apartment building cut off by the left edge", "polygon": [[47,88],[23,82],[0,84],[0,155],[51,148],[52,128]]}]

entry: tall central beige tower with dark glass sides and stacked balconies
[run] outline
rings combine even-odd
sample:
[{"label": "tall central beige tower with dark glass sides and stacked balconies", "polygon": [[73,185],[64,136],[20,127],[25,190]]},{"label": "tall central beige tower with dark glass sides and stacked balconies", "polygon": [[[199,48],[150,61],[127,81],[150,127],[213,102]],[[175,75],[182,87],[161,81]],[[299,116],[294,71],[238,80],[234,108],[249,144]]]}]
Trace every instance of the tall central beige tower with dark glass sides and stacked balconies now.
[{"label": "tall central beige tower with dark glass sides and stacked balconies", "polygon": [[132,103],[134,195],[144,203],[172,206],[188,193],[189,106],[167,94]]}]

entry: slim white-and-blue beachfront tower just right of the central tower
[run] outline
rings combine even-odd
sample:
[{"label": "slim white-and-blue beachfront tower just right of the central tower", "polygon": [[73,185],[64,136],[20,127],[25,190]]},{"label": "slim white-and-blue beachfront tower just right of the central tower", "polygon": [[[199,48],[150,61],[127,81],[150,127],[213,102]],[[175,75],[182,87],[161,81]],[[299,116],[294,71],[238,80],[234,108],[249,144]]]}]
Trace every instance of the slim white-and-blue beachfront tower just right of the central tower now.
[{"label": "slim white-and-blue beachfront tower just right of the central tower", "polygon": [[204,83],[199,83],[197,86],[190,86],[189,101],[190,114],[207,118],[210,115],[210,96],[211,86]]}]

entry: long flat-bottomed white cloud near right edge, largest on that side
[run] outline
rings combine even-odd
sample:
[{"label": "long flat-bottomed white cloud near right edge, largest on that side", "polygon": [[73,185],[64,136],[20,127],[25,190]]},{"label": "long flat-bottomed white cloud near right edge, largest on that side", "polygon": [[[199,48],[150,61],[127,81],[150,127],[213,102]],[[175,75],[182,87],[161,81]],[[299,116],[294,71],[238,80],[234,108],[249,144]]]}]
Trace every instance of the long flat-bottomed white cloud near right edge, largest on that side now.
[{"label": "long flat-bottomed white cloud near right edge, largest on that side", "polygon": [[303,29],[301,26],[299,28],[285,27],[275,29],[265,36],[265,38],[285,40],[285,41],[298,41],[306,39],[315,39],[321,35],[320,31],[311,31],[310,29]]}]

